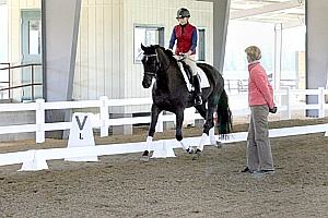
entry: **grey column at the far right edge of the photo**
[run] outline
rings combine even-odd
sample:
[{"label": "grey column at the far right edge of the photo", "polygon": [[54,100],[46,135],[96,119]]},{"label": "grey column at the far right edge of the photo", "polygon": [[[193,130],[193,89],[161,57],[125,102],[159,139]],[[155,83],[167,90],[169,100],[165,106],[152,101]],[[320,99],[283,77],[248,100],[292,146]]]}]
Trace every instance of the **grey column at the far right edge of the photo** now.
[{"label": "grey column at the far right edge of the photo", "polygon": [[[328,1],[305,2],[306,23],[306,88],[326,87],[328,73]],[[317,96],[307,96],[306,104],[318,104]],[[307,117],[318,117],[317,109],[306,110]]]}]

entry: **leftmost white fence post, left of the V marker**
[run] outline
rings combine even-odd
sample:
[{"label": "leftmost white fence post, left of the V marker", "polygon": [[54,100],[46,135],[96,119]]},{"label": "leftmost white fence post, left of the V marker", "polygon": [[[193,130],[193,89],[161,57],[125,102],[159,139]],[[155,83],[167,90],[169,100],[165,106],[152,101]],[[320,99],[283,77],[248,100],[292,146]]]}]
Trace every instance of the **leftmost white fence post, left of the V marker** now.
[{"label": "leftmost white fence post, left of the V marker", "polygon": [[37,130],[35,132],[36,143],[45,142],[45,99],[36,99],[36,110],[35,110],[35,123]]}]

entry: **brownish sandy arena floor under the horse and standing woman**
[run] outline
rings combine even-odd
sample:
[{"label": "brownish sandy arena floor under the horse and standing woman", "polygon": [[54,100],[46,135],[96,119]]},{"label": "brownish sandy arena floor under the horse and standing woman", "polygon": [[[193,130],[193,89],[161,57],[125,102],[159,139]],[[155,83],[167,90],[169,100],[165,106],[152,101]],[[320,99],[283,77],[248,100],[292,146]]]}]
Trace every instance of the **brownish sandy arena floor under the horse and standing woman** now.
[{"label": "brownish sandy arena floor under the horse and standing woman", "polygon": [[[269,116],[270,117],[270,116]],[[272,121],[270,129],[327,123],[325,119]],[[185,137],[201,129],[184,129]],[[234,124],[235,132],[247,124]],[[271,138],[276,174],[239,173],[246,143],[206,146],[201,160],[139,161],[140,154],[101,156],[97,162],[48,161],[49,170],[0,167],[0,217],[327,217],[328,137],[325,133]],[[96,144],[143,142],[134,135],[95,137]],[[174,138],[174,131],[154,140]],[[66,147],[47,140],[0,144],[0,153]]]}]

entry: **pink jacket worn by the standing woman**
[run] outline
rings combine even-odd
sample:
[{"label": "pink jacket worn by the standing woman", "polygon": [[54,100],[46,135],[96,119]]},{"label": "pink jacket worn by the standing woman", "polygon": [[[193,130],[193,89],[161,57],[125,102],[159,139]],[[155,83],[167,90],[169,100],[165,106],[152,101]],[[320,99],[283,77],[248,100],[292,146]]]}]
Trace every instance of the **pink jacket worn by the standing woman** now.
[{"label": "pink jacket worn by the standing woman", "polygon": [[248,65],[248,102],[249,106],[268,105],[273,108],[273,89],[268,81],[266,70],[259,62]]}]

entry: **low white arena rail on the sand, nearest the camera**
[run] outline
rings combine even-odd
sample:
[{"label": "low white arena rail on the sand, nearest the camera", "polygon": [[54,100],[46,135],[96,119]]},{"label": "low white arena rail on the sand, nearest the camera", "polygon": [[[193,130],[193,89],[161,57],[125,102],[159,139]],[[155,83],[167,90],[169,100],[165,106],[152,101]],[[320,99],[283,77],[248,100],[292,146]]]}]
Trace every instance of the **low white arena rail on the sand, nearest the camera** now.
[{"label": "low white arena rail on the sand, nearest the camera", "polygon": [[[328,124],[283,128],[269,130],[270,137],[282,137],[289,135],[301,135],[309,133],[326,132],[327,136]],[[184,141],[196,146],[202,137],[187,137]],[[219,141],[219,136],[215,136]],[[247,132],[233,133],[233,137],[222,140],[221,143],[245,142]],[[210,144],[209,137],[204,142]],[[176,140],[161,140],[152,143],[153,158],[175,157],[174,148],[179,148],[181,145]],[[84,147],[66,147],[66,148],[47,148],[47,149],[31,149],[26,152],[0,154],[0,166],[23,164],[20,171],[35,171],[49,169],[47,160],[79,158],[79,161],[96,161],[97,156],[104,155],[120,155],[129,153],[142,153],[144,150],[144,142],[127,143],[127,144],[110,144]],[[87,160],[87,157],[93,156],[94,160]]]}]

